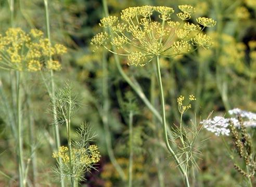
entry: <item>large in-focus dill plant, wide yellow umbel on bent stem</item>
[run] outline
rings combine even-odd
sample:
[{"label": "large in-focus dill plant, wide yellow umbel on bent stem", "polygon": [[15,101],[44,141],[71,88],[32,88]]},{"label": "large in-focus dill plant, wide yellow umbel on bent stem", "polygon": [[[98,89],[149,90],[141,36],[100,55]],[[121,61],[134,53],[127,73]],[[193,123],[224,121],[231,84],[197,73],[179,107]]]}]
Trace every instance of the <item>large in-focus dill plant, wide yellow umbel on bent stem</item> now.
[{"label": "large in-focus dill plant, wide yellow umbel on bent stem", "polygon": [[[104,47],[114,55],[126,57],[129,59],[128,65],[144,66],[153,60],[156,61],[164,141],[184,176],[186,186],[189,186],[186,169],[174,153],[168,140],[159,58],[173,58],[177,55],[187,54],[199,47],[207,49],[212,45],[211,37],[203,34],[202,31],[206,27],[214,26],[216,21],[211,18],[199,17],[196,20],[202,25],[201,27],[188,21],[195,11],[193,6],[180,5],[178,8],[181,11],[176,16],[180,21],[173,21],[171,18],[174,13],[174,9],[171,7],[126,8],[121,11],[121,19],[116,16],[108,16],[100,20],[99,25],[108,28],[110,32],[98,33],[92,38],[91,44],[96,49]],[[113,50],[111,50],[111,46]]]}]

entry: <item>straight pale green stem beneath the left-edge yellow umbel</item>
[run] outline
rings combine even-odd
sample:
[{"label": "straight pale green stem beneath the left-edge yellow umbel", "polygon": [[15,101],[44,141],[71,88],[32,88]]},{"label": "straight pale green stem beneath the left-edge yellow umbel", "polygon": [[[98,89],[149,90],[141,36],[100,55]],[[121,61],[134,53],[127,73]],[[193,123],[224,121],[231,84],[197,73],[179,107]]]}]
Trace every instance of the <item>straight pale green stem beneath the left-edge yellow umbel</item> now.
[{"label": "straight pale green stem beneath the left-edge yellow umbel", "polygon": [[19,157],[19,186],[25,186],[24,163],[23,163],[23,137],[21,123],[21,98],[20,98],[20,72],[16,71],[16,110],[17,110],[17,131],[18,131],[18,157]]}]

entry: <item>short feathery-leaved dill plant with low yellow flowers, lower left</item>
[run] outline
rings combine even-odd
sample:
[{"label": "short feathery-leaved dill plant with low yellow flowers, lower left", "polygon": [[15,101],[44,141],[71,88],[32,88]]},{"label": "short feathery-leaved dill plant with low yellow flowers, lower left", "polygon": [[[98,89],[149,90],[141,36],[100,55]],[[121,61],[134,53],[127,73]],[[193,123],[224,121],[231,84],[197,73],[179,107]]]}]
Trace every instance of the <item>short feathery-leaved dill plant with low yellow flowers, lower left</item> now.
[{"label": "short feathery-leaved dill plant with low yellow flowers, lower left", "polygon": [[77,131],[78,140],[71,140],[71,119],[79,108],[79,102],[72,94],[70,83],[66,83],[64,88],[57,91],[54,102],[52,101],[51,111],[56,118],[54,117],[53,124],[66,126],[68,146],[60,146],[58,151],[53,153],[58,163],[53,171],[61,177],[60,180],[67,177],[71,186],[78,186],[78,182],[84,179],[84,173],[95,169],[94,164],[99,162],[100,154],[97,146],[89,144],[94,141],[96,135],[92,133],[91,126],[81,124]]}]

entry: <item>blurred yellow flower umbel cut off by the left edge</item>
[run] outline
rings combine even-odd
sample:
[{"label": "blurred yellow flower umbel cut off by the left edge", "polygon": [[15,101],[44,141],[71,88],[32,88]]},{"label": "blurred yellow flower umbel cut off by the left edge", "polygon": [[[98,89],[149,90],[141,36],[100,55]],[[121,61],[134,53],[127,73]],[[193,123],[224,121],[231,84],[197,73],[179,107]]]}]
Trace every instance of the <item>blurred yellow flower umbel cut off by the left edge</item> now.
[{"label": "blurred yellow flower umbel cut off by the left edge", "polygon": [[0,68],[31,72],[40,71],[44,67],[48,70],[59,70],[58,61],[54,61],[54,66],[49,66],[45,59],[63,55],[67,48],[61,44],[51,46],[43,35],[37,29],[25,33],[20,28],[10,28],[5,35],[0,35]]}]

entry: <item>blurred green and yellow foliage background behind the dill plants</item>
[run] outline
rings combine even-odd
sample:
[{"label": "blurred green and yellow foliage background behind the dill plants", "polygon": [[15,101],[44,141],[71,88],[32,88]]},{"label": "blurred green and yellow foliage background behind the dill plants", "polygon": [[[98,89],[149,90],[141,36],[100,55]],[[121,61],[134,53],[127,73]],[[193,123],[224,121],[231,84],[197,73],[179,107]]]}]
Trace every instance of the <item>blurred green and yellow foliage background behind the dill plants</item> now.
[{"label": "blurred green and yellow foliage background behind the dill plants", "polygon": [[[180,95],[188,97],[193,94],[197,100],[185,114],[184,122],[189,126],[190,119],[205,119],[214,111],[224,115],[233,108],[256,112],[256,46],[249,45],[256,41],[256,1],[255,0],[190,0],[190,1],[107,1],[110,15],[119,15],[124,8],[142,5],[171,6],[177,11],[177,6],[190,4],[196,8],[192,20],[197,17],[210,17],[217,21],[214,28],[206,32],[213,38],[213,46],[209,50],[199,49],[189,55],[178,56],[172,60],[161,59],[162,81],[165,90],[167,121],[169,125],[178,124],[179,115],[176,98]],[[114,156],[123,170],[128,172],[128,116],[124,103],[127,102],[127,92],[134,97],[137,113],[134,116],[134,186],[159,186],[157,170],[163,173],[165,186],[182,186],[183,179],[175,163],[163,148],[162,131],[160,140],[156,137],[156,128],[160,124],[134,90],[120,75],[113,56],[107,54],[108,98],[103,97],[104,73],[103,51],[92,52],[89,42],[94,34],[100,32],[99,20],[104,17],[101,1],[96,0],[52,0],[49,2],[50,26],[52,40],[68,47],[68,54],[62,60],[62,69],[55,73],[57,87],[61,88],[66,81],[73,84],[74,93],[81,99],[81,108],[72,121],[72,131],[86,121],[93,126],[98,137],[96,144],[102,155],[97,166],[98,171],[86,176],[83,186],[124,186],[126,185],[112,166],[106,147],[106,136],[111,141]],[[4,33],[10,27],[10,12],[8,1],[0,1],[0,32]],[[37,28],[45,32],[44,5],[41,0],[15,1],[15,26],[25,31]],[[158,87],[152,89],[156,78],[155,66],[149,63],[144,67],[128,66],[127,59],[120,58],[123,71],[132,81],[139,84],[146,97],[156,102]],[[5,94],[11,102],[10,75],[0,71]],[[106,79],[105,79],[106,80]],[[157,83],[155,83],[157,84]],[[52,178],[50,168],[54,166],[52,158],[53,132],[50,126],[51,116],[49,97],[43,85],[40,74],[27,73],[23,82],[24,102],[31,100],[29,106],[22,111],[24,125],[29,120],[34,123],[38,175],[37,185],[58,186]],[[103,112],[103,105],[108,102],[108,114]],[[1,108],[1,106],[0,106]],[[160,112],[160,110],[158,110]],[[4,112],[1,112],[2,114]],[[196,117],[195,117],[196,114]],[[103,116],[109,117],[110,138],[103,125]],[[32,119],[30,117],[32,117]],[[17,164],[15,142],[10,135],[10,128],[1,120],[0,115],[0,186],[17,185]],[[60,127],[61,144],[67,144],[65,127]],[[25,158],[29,158],[31,142],[29,130],[24,127]],[[75,139],[75,137],[73,137]],[[199,169],[192,177],[192,186],[244,186],[243,178],[236,172],[229,159],[221,137],[216,137],[206,130],[201,139],[210,140],[200,143],[201,159],[198,159]],[[231,143],[231,138],[226,138]],[[254,148],[255,149],[255,148]],[[157,159],[156,159],[157,158]],[[27,160],[26,160],[27,162]],[[31,172],[28,172],[32,181]],[[192,175],[193,176],[193,175]],[[256,185],[256,182],[254,183]]]}]

